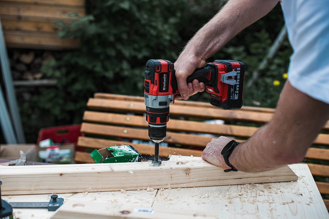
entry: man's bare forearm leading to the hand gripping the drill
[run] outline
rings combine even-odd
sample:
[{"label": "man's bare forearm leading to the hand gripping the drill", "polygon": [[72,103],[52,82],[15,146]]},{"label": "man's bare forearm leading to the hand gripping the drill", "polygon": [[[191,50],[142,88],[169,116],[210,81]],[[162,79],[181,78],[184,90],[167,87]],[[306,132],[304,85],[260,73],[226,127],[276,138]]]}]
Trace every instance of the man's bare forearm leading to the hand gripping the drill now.
[{"label": "man's bare forearm leading to the hand gripping the drill", "polygon": [[230,0],[186,45],[184,52],[206,60],[241,30],[271,11],[278,0]]}]

